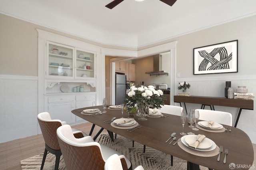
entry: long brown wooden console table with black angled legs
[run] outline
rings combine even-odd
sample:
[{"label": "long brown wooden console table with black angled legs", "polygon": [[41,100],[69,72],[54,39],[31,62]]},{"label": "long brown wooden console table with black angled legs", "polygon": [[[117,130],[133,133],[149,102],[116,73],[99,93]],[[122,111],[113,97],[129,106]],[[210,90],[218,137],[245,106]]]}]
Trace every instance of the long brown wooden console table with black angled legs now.
[{"label": "long brown wooden console table with black angled legs", "polygon": [[[213,107],[214,110],[214,105],[215,106],[226,106],[226,107],[237,107],[240,108],[237,118],[236,118],[236,123],[234,127],[236,127],[241,111],[242,109],[248,109],[248,110],[253,110],[253,100],[242,100],[242,99],[228,99],[226,97],[207,97],[207,96],[174,96],[174,102],[184,103],[185,109],[186,109],[186,104],[185,103],[195,103],[195,104],[201,104],[201,109],[204,109],[204,106],[210,106],[211,110]],[[187,113],[187,109],[186,109]]]}]

